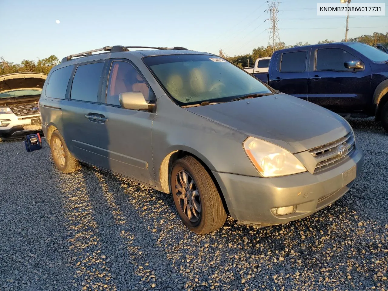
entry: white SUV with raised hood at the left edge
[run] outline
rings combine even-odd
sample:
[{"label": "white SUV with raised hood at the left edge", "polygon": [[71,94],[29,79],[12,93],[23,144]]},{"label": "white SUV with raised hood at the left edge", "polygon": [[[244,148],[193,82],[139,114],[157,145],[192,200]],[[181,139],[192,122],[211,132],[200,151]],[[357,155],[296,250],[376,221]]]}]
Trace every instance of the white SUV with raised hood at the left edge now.
[{"label": "white SUV with raised hood at the left edge", "polygon": [[42,130],[38,101],[46,78],[40,73],[0,76],[0,141]]}]

